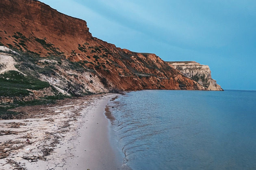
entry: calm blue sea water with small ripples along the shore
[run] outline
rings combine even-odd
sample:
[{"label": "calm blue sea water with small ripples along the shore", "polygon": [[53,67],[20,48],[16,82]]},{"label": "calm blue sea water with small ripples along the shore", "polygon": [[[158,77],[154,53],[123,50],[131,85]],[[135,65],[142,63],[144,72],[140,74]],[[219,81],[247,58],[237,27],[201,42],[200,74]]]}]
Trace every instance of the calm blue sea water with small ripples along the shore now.
[{"label": "calm blue sea water with small ripples along the shore", "polygon": [[256,169],[256,91],[144,90],[109,104],[132,170]]}]

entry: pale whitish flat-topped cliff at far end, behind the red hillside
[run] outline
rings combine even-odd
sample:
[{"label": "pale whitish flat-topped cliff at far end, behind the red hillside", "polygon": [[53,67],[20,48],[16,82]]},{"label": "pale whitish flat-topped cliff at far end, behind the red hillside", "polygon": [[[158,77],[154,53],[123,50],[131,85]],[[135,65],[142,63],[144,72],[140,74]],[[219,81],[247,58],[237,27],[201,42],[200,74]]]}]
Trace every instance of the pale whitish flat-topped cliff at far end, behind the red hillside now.
[{"label": "pale whitish flat-topped cliff at far end, behind the red hillside", "polygon": [[168,64],[179,70],[184,76],[204,86],[207,90],[223,91],[216,80],[212,79],[209,66],[197,62],[168,62]]}]

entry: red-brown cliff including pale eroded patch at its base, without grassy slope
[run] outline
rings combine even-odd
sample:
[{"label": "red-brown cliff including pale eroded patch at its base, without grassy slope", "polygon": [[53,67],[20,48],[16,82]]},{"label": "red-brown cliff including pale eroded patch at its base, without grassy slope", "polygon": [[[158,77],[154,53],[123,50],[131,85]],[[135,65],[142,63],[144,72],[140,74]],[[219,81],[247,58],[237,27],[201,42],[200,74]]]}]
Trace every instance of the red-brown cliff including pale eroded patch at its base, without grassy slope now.
[{"label": "red-brown cliff including pale eroded patch at its base, without grassy slope", "polygon": [[0,45],[33,56],[26,60],[30,67],[24,65],[26,55],[16,57],[23,63],[20,69],[26,67],[59,91],[205,89],[155,54],[135,53],[95,38],[85,21],[37,0],[1,0],[0,20]]}]

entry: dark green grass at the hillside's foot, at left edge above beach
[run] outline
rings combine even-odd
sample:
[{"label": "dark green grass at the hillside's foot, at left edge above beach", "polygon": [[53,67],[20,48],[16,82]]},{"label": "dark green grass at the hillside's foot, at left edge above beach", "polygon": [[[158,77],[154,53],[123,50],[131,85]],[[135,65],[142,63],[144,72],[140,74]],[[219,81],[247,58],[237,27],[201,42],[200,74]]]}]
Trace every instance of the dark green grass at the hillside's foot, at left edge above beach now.
[{"label": "dark green grass at the hillside's foot, at left edge above beach", "polygon": [[[0,74],[0,97],[25,97],[33,94],[30,90],[39,90],[46,87],[50,87],[48,82],[40,81],[35,77],[25,76],[14,70]],[[27,102],[14,100],[13,103],[0,103],[0,119],[9,119],[12,115],[17,115],[17,113],[9,111],[11,108],[53,102],[54,100],[47,97]]]}]

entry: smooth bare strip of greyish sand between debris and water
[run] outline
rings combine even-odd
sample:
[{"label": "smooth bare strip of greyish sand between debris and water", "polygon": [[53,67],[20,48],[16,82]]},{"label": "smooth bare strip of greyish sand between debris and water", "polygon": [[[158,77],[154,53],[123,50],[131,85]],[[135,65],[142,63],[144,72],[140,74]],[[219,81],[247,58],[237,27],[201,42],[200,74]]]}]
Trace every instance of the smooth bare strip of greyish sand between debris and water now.
[{"label": "smooth bare strip of greyish sand between debris and water", "polygon": [[64,169],[117,170],[121,167],[109,142],[108,120],[104,117],[104,108],[108,100],[116,95],[100,100],[91,108],[83,120],[85,125],[78,129],[77,140],[74,141],[74,157],[66,160]]}]

